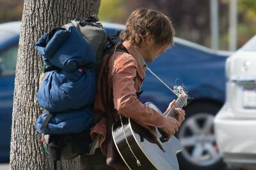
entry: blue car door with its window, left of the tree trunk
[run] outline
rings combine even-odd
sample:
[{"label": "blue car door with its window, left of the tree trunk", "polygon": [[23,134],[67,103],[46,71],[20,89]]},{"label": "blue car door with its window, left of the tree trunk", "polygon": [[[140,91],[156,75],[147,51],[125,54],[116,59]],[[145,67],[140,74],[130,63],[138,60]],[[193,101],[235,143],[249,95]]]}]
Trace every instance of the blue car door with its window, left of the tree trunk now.
[{"label": "blue car door with its window, left of the tree trunk", "polygon": [[8,161],[10,154],[17,49],[18,45],[15,43],[0,50],[0,162]]}]

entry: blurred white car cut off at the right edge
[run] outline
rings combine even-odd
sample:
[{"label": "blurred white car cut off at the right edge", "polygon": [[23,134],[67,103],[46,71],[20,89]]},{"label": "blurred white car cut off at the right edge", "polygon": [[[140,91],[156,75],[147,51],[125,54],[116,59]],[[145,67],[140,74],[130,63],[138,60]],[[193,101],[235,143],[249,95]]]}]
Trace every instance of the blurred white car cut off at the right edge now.
[{"label": "blurred white car cut off at the right edge", "polygon": [[256,169],[256,35],[226,62],[226,101],[214,119],[223,160]]}]

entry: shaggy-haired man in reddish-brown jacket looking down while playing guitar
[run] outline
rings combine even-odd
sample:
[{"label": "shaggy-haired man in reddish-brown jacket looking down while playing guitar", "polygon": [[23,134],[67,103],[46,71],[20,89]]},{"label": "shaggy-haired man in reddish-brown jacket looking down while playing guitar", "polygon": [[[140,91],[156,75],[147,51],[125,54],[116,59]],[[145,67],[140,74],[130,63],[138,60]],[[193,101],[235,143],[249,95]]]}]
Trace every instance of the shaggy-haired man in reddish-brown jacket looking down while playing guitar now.
[{"label": "shaggy-haired man in reddish-brown jacket looking down while playing guitar", "polygon": [[[152,62],[170,48],[173,35],[172,23],[159,11],[138,9],[127,20],[121,45],[127,52],[117,50],[113,52],[114,55],[111,53],[110,58],[104,57],[102,62],[93,110],[96,119],[102,118],[91,132],[91,153],[95,152],[94,155],[81,157],[84,169],[128,169],[116,152],[111,137],[111,125],[119,119],[118,114],[132,118],[148,129],[152,126],[159,127],[166,132],[167,139],[178,131],[184,121],[184,110],[175,110],[179,115],[177,120],[164,117],[140,103],[136,95],[145,78],[145,60]],[[170,103],[166,111],[169,111],[174,103],[175,101]]]}]

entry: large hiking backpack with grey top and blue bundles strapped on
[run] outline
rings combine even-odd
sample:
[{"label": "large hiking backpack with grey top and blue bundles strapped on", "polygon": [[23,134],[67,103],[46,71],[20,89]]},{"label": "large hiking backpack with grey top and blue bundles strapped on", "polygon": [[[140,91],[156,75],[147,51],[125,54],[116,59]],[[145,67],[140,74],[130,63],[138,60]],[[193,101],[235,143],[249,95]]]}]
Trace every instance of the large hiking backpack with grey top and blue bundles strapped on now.
[{"label": "large hiking backpack with grey top and blue bundles strapped on", "polygon": [[42,134],[54,169],[56,160],[73,159],[90,150],[97,73],[102,57],[113,49],[120,33],[108,36],[98,21],[96,15],[72,20],[35,44],[44,61],[37,94],[43,111],[35,128]]}]

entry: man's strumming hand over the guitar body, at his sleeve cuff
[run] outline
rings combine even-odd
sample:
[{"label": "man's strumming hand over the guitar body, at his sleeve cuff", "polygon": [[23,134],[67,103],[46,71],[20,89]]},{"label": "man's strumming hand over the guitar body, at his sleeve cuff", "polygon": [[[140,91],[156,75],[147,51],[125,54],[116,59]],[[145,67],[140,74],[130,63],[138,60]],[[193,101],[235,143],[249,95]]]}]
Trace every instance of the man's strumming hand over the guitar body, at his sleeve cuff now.
[{"label": "man's strumming hand over the guitar body, at his sleeve cuff", "polygon": [[173,117],[164,117],[163,119],[163,127],[161,128],[165,133],[166,136],[164,136],[164,141],[168,141],[175,132],[179,130],[180,122],[178,122]]}]

